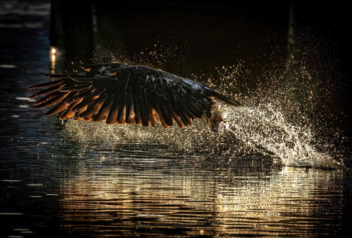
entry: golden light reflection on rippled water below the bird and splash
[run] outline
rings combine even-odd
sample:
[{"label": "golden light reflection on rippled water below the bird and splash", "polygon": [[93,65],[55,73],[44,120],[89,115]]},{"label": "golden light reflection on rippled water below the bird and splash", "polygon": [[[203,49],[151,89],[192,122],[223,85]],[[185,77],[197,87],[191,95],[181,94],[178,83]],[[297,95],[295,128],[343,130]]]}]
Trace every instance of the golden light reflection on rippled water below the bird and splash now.
[{"label": "golden light reflection on rippled water below the bird and splash", "polygon": [[297,237],[339,229],[334,220],[342,213],[337,199],[342,187],[334,183],[339,171],[256,166],[241,171],[170,160],[83,161],[78,175],[68,175],[59,189],[65,229],[159,237]]}]

